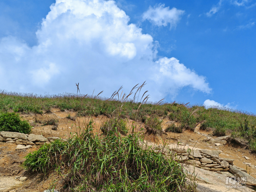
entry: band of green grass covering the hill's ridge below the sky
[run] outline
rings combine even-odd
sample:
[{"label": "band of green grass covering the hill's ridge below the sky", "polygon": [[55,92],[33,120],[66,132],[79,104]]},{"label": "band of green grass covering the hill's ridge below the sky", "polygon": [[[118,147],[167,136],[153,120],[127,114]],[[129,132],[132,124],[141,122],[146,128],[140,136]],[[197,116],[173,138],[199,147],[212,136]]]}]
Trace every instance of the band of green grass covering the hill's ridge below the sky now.
[{"label": "band of green grass covering the hill's ridge below the sky", "polygon": [[[256,139],[256,134],[254,134],[256,132],[256,117],[254,114],[220,108],[205,109],[201,105],[190,106],[188,103],[146,102],[147,92],[141,94],[141,98],[139,96],[143,86],[144,84],[135,86],[128,95],[120,94],[121,89],[119,89],[109,99],[101,98],[99,94],[97,96],[72,94],[37,96],[0,91],[0,112],[12,110],[19,113],[42,114],[49,112],[53,107],[58,107],[62,111],[74,110],[76,116],[105,115],[113,119],[129,117],[146,123],[146,128],[149,128],[151,133],[160,133],[161,129],[159,123],[149,125],[149,121],[153,122],[154,119],[168,117],[171,121],[176,121],[178,125],[177,129],[169,128],[169,131],[177,132],[179,130],[180,132],[183,129],[193,131],[196,125],[201,123],[201,129],[212,130],[213,135],[216,136],[232,133],[236,137],[247,139],[250,143]],[[147,120],[149,117],[151,119]],[[247,130],[241,126],[245,120]],[[109,124],[116,127],[114,121]],[[251,146],[253,146],[252,143]]]}]

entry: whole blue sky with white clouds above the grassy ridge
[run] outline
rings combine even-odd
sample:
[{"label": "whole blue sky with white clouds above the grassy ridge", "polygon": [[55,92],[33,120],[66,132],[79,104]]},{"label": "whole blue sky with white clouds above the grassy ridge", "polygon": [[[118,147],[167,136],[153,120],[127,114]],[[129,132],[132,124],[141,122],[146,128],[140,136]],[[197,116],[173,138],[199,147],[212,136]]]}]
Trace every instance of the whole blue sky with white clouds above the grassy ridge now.
[{"label": "whole blue sky with white clouds above the grassy ridge", "polygon": [[255,0],[2,0],[0,89],[109,97],[146,80],[152,101],[256,113],[255,24]]}]

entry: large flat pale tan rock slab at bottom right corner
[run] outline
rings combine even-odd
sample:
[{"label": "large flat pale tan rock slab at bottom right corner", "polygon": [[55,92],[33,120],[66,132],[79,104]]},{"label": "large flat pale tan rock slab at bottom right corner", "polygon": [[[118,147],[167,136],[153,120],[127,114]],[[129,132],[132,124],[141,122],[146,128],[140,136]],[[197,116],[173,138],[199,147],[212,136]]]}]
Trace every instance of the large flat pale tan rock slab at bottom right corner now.
[{"label": "large flat pale tan rock slab at bottom right corner", "polygon": [[[209,167],[208,167],[209,168]],[[207,171],[204,169],[200,169],[197,167],[193,167],[189,165],[188,167],[184,167],[189,177],[193,180],[196,178],[197,181],[197,192],[253,192],[254,190],[250,188],[226,188],[226,175],[219,174],[213,171]],[[238,183],[236,186],[241,186]],[[254,191],[255,192],[255,191]]]}]

